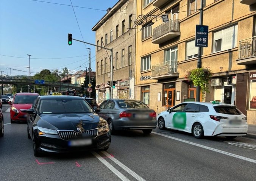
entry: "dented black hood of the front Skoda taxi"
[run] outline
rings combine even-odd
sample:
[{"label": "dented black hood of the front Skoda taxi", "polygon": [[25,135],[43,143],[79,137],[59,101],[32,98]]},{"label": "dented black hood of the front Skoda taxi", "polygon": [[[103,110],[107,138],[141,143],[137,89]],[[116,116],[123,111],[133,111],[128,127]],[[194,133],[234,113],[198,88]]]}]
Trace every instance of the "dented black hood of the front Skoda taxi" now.
[{"label": "dented black hood of the front Skoda taxi", "polygon": [[84,131],[97,128],[100,119],[97,114],[41,114],[37,125],[53,130],[74,130],[83,128]]}]

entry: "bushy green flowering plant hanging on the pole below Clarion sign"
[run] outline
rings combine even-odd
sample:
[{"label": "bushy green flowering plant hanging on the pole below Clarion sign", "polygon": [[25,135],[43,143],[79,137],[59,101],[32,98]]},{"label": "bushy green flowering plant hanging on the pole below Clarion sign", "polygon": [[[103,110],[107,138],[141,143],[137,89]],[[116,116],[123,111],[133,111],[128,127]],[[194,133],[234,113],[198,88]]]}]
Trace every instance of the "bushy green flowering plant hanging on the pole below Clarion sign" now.
[{"label": "bushy green flowering plant hanging on the pole below Clarion sign", "polygon": [[200,86],[202,94],[209,92],[208,85],[212,77],[212,71],[208,67],[191,69],[186,73],[187,81],[192,81],[195,86]]}]

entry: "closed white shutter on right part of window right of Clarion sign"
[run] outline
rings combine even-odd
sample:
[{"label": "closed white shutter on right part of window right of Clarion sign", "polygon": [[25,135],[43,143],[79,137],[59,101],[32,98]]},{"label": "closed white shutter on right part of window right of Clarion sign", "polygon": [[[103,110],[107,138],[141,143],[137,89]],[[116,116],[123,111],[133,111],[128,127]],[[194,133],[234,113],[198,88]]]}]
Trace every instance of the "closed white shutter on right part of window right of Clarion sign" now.
[{"label": "closed white shutter on right part of window right of Clarion sign", "polygon": [[237,25],[223,29],[222,50],[228,50],[236,47],[237,43]]}]

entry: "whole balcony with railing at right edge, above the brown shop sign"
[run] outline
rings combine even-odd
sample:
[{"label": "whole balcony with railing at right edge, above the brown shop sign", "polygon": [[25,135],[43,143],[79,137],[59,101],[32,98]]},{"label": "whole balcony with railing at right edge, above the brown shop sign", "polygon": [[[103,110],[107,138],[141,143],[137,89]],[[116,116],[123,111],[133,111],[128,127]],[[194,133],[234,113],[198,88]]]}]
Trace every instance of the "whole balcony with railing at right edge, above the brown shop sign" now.
[{"label": "whole balcony with railing at right edge, above the brown shop sign", "polygon": [[256,64],[256,36],[239,41],[238,65]]}]

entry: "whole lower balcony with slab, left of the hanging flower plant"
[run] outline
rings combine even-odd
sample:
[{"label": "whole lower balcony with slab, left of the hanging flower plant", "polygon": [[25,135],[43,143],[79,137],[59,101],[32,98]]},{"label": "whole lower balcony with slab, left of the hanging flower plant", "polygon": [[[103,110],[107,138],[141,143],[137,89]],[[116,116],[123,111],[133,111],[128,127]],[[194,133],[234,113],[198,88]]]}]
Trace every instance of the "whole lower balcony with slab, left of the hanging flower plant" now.
[{"label": "whole lower balcony with slab, left of the hanging flower plant", "polygon": [[151,79],[159,80],[178,76],[178,61],[167,61],[152,66]]}]

